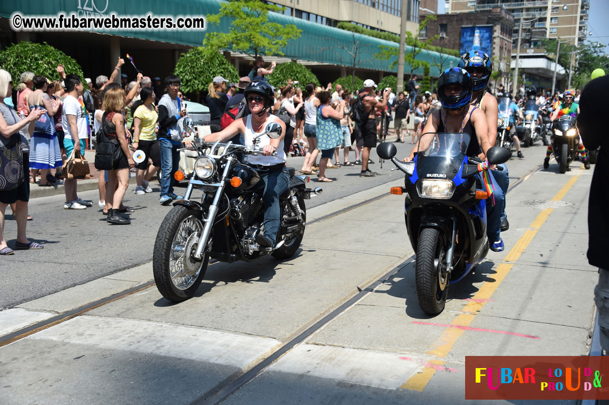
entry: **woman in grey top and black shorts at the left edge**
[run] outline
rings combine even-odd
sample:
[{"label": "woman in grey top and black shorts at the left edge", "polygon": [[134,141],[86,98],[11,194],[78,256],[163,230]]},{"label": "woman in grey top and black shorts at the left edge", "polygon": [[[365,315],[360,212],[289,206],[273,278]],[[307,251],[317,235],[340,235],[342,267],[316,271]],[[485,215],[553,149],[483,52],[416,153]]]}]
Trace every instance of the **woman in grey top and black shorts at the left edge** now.
[{"label": "woman in grey top and black shorts at the left edge", "polygon": [[[0,255],[12,255],[13,249],[7,246],[4,238],[4,212],[9,204],[15,204],[13,215],[17,220],[16,249],[42,249],[40,243],[30,242],[26,238],[27,202],[30,199],[29,176],[29,145],[23,133],[33,133],[34,123],[46,110],[35,109],[24,119],[19,119],[16,112],[4,103],[5,97],[10,97],[13,82],[9,72],[0,69]],[[5,175],[10,166],[11,176]]]}]

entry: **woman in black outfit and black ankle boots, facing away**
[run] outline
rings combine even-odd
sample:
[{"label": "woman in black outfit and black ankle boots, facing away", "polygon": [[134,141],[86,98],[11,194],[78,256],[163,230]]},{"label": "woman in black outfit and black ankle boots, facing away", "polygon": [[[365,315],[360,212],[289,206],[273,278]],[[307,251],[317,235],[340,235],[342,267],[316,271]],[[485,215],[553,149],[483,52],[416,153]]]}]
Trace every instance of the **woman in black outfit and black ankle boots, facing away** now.
[{"label": "woman in black outfit and black ankle boots, facing away", "polygon": [[[121,109],[125,105],[125,91],[113,88],[105,92],[102,109],[102,128],[108,140],[118,141],[118,150],[114,155],[113,168],[107,170],[106,202],[112,204],[108,209],[108,223],[127,225],[131,221],[120,215],[122,198],[129,187],[129,169],[135,167],[135,161],[129,151],[127,136],[125,136],[125,119]],[[118,187],[117,187],[118,184]],[[127,211],[126,209],[124,210]]]}]

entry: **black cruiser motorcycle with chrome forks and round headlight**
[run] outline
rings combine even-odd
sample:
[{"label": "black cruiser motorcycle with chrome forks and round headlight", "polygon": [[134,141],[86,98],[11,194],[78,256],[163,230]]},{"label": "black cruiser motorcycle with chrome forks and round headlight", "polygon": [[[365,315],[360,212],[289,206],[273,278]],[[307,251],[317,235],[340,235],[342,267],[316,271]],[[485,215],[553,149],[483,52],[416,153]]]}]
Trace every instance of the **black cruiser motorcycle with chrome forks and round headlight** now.
[{"label": "black cruiser motorcycle with chrome forks and round headlight", "polygon": [[[194,133],[191,119],[184,129]],[[265,134],[276,139],[281,126],[272,122]],[[267,255],[286,259],[295,254],[305,235],[305,199],[322,189],[306,188],[308,178],[295,176],[288,168],[289,189],[280,196],[281,223],[275,247],[256,243],[264,220],[262,190],[252,190],[260,180],[255,168],[238,161],[236,154],[259,154],[260,136],[252,146],[228,142],[209,144],[195,139],[197,152],[194,171],[183,200],[174,202],[158,229],[152,257],[152,271],[158,291],[170,301],[181,302],[193,296],[203,280],[209,258],[232,263],[254,261]],[[191,199],[196,188],[203,191],[200,201]]]}]

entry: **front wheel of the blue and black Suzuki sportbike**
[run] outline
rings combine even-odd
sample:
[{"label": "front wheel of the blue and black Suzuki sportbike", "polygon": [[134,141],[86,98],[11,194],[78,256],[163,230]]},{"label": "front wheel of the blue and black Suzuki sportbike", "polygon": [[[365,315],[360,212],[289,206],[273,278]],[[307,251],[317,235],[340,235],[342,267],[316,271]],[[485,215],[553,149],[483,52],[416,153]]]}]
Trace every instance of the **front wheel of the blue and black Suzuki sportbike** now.
[{"label": "front wheel of the blue and black Suzuki sportbike", "polygon": [[424,228],[419,235],[415,278],[419,306],[428,315],[441,313],[446,304],[449,274],[445,260],[444,235],[438,229]]}]

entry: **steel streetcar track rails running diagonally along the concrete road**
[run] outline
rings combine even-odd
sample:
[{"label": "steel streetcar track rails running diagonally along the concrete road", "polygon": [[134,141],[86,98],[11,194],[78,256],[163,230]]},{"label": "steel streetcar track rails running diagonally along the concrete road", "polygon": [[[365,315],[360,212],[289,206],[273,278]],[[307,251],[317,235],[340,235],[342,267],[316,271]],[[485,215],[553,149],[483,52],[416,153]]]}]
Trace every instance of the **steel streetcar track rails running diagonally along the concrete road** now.
[{"label": "steel streetcar track rails running diagonally along the concrete road", "polygon": [[[508,193],[511,192],[513,189],[518,187],[518,185],[522,184],[524,181],[529,179],[532,175],[534,175],[535,173],[537,173],[537,171],[540,171],[540,170],[541,170],[541,165],[533,168],[526,175],[517,179],[512,185],[510,185],[507,192]],[[319,218],[316,218],[315,220],[309,221],[307,224],[311,225],[311,224],[314,224],[317,222],[328,220],[329,218],[333,218],[334,216],[338,216],[343,213],[349,212],[353,209],[365,206],[366,204],[370,204],[370,202],[378,201],[379,199],[382,199],[385,196],[389,196],[389,195],[390,195],[389,192],[382,193],[381,195],[366,199],[365,201],[357,202],[356,204],[353,204],[351,206],[337,210],[336,212],[332,212],[332,213],[320,216]],[[249,381],[251,381],[253,378],[255,378],[260,373],[262,373],[267,367],[272,365],[275,361],[280,359],[281,356],[286,354],[292,348],[296,347],[298,344],[301,344],[302,342],[304,342],[307,338],[312,336],[315,332],[319,331],[325,325],[327,325],[329,322],[331,322],[333,319],[340,316],[340,314],[344,313],[345,311],[348,311],[351,307],[356,305],[357,302],[364,299],[368,294],[373,292],[380,285],[387,282],[391,277],[393,277],[393,275],[395,275],[397,272],[401,271],[401,269],[410,265],[410,263],[412,263],[412,260],[414,260],[414,257],[415,257],[415,255],[412,254],[409,257],[404,256],[404,257],[400,258],[400,263],[398,263],[396,265],[392,265],[392,269],[390,269],[389,271],[384,271],[382,273],[381,277],[378,277],[378,276],[373,277],[376,280],[371,283],[368,283],[368,285],[365,286],[364,288],[359,288],[359,286],[358,286],[357,290],[353,292],[353,295],[348,296],[348,297],[343,297],[342,300],[339,300],[338,302],[334,302],[332,306],[335,306],[335,308],[333,310],[331,310],[329,313],[327,313],[325,315],[323,315],[323,313],[319,314],[319,316],[322,316],[322,317],[319,318],[319,316],[318,316],[316,320],[312,320],[310,326],[308,326],[308,327],[306,325],[304,327],[301,327],[300,333],[298,331],[295,331],[292,334],[292,336],[294,336],[295,333],[298,333],[297,336],[290,339],[286,343],[282,344],[280,347],[276,348],[276,350],[273,350],[272,353],[270,353],[268,356],[266,356],[266,358],[258,361],[256,364],[254,364],[252,367],[250,367],[247,370],[241,370],[240,372],[233,373],[233,375],[229,376],[227,379],[225,379],[224,381],[217,384],[216,387],[214,387],[213,389],[210,389],[203,395],[200,395],[199,397],[195,398],[195,400],[191,401],[190,405],[217,404],[217,403],[220,403],[221,401],[225,400],[232,393],[236,392],[236,390],[240,389],[242,386],[244,386]],[[214,263],[218,263],[218,262],[213,261],[213,263],[210,263],[210,265],[214,264]],[[27,327],[23,327],[18,330],[12,331],[10,333],[4,334],[3,336],[0,336],[0,348],[4,347],[5,345],[8,345],[12,342],[16,342],[16,341],[19,341],[20,339],[26,338],[27,336],[37,333],[38,331],[53,327],[55,325],[61,324],[62,322],[65,322],[66,320],[69,320],[74,317],[85,314],[88,311],[99,308],[100,306],[104,306],[107,303],[119,300],[123,297],[130,296],[136,292],[143,291],[147,288],[150,288],[153,285],[155,285],[154,280],[150,280],[149,282],[145,282],[145,283],[133,286],[132,288],[125,289],[124,291],[116,292],[115,294],[112,294],[111,296],[104,297],[102,299],[96,300],[96,301],[88,303],[86,305],[82,305],[82,306],[79,306],[72,310],[66,311],[65,313],[57,314],[55,316],[49,317],[48,319],[44,319],[39,322],[35,322],[34,324],[29,325]],[[342,303],[341,303],[341,301],[342,301]]]}]

